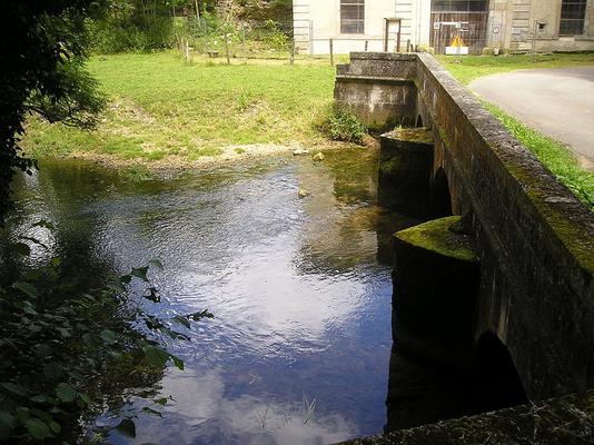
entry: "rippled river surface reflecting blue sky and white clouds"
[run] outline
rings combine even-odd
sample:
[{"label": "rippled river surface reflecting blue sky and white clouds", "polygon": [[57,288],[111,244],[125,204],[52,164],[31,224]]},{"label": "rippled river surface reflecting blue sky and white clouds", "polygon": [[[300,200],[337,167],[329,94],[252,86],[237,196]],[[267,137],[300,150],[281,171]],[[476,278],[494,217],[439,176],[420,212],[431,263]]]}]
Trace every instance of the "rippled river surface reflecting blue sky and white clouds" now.
[{"label": "rippled river surface reflecting blue sky and white clouds", "polygon": [[[216,316],[168,343],[186,369],[152,385],[175,402],[162,418],[139,416],[136,443],[321,444],[382,431],[392,346],[382,258],[389,233],[410,222],[376,205],[376,162],[346,149],[318,164],[279,157],[132,180],[65,161],[21,181],[13,227],[58,224],[53,251],[36,255],[61,253],[92,283],[160,258],[151,278],[164,301],[149,310]],[[146,403],[123,396],[130,412]]]}]

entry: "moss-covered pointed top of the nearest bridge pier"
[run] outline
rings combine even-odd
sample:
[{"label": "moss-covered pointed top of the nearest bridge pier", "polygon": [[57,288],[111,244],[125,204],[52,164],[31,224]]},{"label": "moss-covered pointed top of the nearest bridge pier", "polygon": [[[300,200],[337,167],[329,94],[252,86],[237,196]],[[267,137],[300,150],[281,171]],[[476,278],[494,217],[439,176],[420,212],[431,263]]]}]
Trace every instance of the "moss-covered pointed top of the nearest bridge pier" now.
[{"label": "moss-covered pointed top of the nearest bridge pier", "polygon": [[473,238],[451,230],[451,227],[458,224],[461,219],[462,217],[459,216],[434,219],[409,229],[400,230],[395,236],[400,241],[434,251],[437,255],[463,261],[477,261]]}]

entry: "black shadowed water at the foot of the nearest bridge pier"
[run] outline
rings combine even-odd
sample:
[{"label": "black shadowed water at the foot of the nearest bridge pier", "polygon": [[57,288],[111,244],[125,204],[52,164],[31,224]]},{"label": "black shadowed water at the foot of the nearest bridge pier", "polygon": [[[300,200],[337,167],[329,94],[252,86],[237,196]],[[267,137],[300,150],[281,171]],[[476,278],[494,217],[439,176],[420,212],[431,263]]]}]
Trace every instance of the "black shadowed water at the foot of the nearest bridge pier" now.
[{"label": "black shadowed water at the foot of the nearest bridge pier", "polygon": [[[389,360],[386,432],[526,403],[514,365],[502,345],[478,345],[468,364],[439,364],[397,346]],[[475,355],[476,354],[476,355]]]}]

